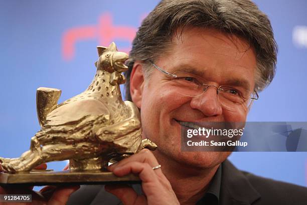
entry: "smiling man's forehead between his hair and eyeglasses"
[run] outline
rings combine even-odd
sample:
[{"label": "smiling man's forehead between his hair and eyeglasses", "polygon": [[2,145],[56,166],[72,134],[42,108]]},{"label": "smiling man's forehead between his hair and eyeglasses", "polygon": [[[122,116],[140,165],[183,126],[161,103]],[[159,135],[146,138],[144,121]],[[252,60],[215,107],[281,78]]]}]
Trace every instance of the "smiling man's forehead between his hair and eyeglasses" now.
[{"label": "smiling man's forehead between his hair and eyeglasses", "polygon": [[256,56],[244,39],[204,28],[179,29],[177,33],[181,35],[173,37],[169,54],[158,59],[168,71],[196,70],[218,83],[233,78],[254,86]]}]

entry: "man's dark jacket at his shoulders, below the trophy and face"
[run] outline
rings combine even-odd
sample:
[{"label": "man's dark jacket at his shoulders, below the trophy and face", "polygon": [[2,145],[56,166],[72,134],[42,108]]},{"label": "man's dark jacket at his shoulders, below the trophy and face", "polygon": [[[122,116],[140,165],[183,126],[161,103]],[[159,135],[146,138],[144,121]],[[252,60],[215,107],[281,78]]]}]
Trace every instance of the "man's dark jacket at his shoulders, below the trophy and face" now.
[{"label": "man's dark jacket at his shoulders, below the trophy and face", "polygon": [[[140,185],[133,185],[141,193]],[[84,185],[73,193],[68,204],[120,204],[103,185]],[[275,181],[238,170],[228,160],[222,163],[220,204],[307,205],[307,188]]]}]

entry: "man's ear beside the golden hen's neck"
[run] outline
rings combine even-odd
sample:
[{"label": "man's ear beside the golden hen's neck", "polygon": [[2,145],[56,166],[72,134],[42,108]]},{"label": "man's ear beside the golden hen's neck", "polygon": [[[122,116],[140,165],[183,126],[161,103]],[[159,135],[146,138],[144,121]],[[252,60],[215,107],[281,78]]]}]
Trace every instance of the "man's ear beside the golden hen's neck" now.
[{"label": "man's ear beside the golden hen's neck", "polygon": [[144,87],[142,64],[134,62],[130,74],[130,94],[134,104],[140,109]]}]

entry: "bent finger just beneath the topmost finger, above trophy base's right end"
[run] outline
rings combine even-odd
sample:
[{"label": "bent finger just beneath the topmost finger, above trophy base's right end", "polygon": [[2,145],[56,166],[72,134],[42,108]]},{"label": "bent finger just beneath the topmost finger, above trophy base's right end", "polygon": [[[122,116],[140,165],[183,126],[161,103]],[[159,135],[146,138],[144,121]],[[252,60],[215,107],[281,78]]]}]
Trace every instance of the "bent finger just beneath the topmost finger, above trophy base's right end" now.
[{"label": "bent finger just beneath the topmost finger, above trophy base's right end", "polygon": [[129,173],[138,174],[139,178],[143,182],[155,182],[157,181],[157,174],[155,174],[154,170],[150,167],[149,164],[141,163],[141,162],[129,162],[120,167],[116,167],[113,170],[113,173],[116,176],[125,176]]}]

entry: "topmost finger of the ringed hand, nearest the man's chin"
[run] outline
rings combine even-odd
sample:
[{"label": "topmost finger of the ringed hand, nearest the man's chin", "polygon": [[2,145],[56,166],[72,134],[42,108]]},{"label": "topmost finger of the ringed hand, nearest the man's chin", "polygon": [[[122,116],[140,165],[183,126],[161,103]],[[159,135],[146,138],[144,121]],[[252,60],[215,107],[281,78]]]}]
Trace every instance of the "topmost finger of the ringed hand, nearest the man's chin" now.
[{"label": "topmost finger of the ringed hand, nearest the man's chin", "polygon": [[128,158],[125,158],[125,159],[123,159],[123,160],[121,160],[121,161],[119,161],[115,164],[108,166],[108,170],[113,171],[116,167],[125,165],[129,162],[132,162],[132,161],[147,163],[151,167],[159,165],[158,160],[156,159],[155,155],[152,154],[152,152],[149,151],[148,149],[143,149],[137,154],[133,154]]}]

